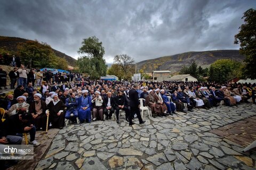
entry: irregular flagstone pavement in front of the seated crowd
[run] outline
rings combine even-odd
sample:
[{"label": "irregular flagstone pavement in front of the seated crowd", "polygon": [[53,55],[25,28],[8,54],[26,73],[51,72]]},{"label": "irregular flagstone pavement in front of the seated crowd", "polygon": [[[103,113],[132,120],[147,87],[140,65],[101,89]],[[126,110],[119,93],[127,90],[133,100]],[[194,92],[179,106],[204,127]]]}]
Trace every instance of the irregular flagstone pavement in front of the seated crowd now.
[{"label": "irregular flagstone pavement in front of the seated crowd", "polygon": [[[242,150],[255,140],[255,111],[241,104],[146,116],[143,125],[129,126],[122,117],[120,124],[69,124],[36,169],[254,169],[255,152]],[[239,129],[247,126],[250,135]]]}]

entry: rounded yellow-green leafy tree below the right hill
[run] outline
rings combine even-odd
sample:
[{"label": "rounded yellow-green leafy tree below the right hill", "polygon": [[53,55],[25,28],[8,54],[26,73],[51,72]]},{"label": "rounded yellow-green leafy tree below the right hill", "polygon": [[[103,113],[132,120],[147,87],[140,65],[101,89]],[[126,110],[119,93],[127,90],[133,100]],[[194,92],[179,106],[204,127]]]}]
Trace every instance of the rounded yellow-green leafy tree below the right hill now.
[{"label": "rounded yellow-green leafy tree below the right hill", "polygon": [[240,67],[241,63],[235,60],[217,60],[210,66],[209,81],[225,82],[232,79],[238,75]]}]

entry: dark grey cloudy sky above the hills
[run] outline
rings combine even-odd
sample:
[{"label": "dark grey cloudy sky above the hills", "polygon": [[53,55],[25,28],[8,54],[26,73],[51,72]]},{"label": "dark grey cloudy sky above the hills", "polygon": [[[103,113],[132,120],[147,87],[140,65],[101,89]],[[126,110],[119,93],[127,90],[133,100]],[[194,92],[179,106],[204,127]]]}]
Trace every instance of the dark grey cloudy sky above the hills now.
[{"label": "dark grey cloudy sky above the hills", "polygon": [[77,58],[96,36],[105,59],[136,62],[189,51],[238,49],[234,35],[255,0],[1,0],[0,35],[37,39]]}]

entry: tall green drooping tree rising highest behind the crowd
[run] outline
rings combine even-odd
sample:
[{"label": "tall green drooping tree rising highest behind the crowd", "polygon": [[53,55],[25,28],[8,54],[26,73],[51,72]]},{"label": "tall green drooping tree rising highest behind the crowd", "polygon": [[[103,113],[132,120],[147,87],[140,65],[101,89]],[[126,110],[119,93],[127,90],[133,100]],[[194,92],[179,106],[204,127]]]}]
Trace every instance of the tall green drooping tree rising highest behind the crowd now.
[{"label": "tall green drooping tree rising highest behind the crowd", "polygon": [[105,49],[97,37],[83,39],[82,47],[79,48],[78,54],[82,54],[82,57],[78,57],[77,60],[80,72],[89,74],[93,79],[99,79],[101,76],[106,75],[107,66],[106,61],[103,59]]}]

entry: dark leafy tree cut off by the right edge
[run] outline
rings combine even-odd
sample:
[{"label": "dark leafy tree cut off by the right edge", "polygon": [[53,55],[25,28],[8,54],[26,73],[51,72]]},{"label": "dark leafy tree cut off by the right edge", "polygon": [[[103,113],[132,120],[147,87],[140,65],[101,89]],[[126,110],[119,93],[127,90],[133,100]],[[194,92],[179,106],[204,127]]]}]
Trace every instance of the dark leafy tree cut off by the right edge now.
[{"label": "dark leafy tree cut off by the right edge", "polygon": [[247,10],[242,17],[244,24],[235,35],[235,44],[240,44],[239,53],[245,55],[242,78],[256,79],[256,10]]}]

